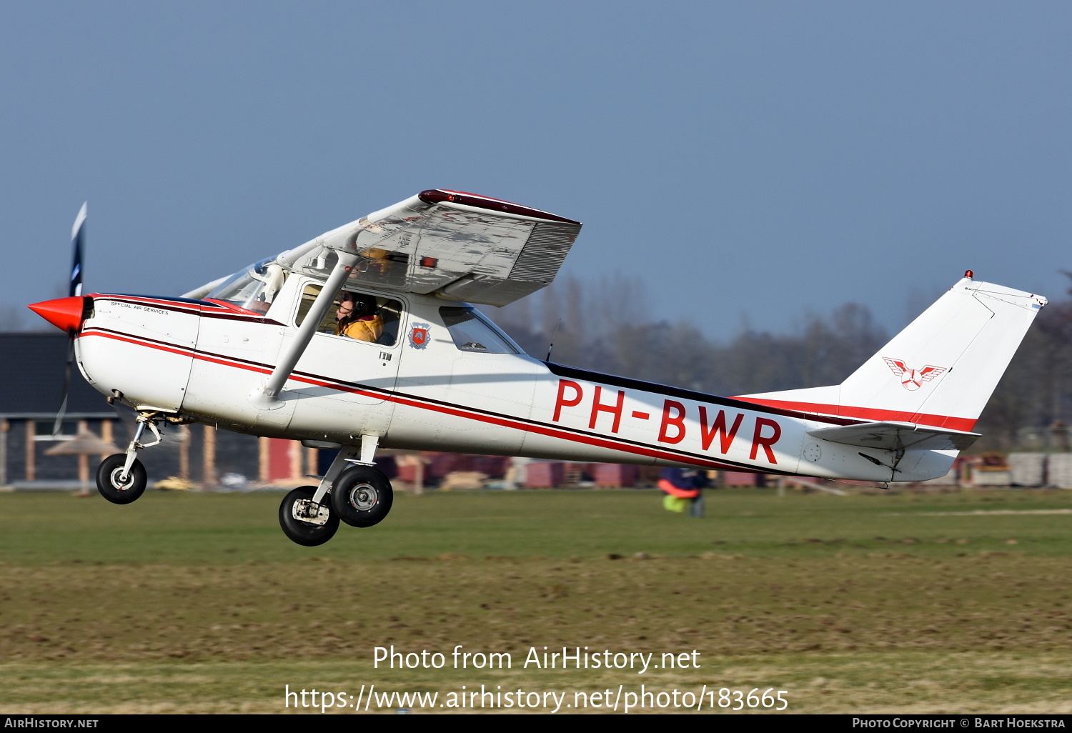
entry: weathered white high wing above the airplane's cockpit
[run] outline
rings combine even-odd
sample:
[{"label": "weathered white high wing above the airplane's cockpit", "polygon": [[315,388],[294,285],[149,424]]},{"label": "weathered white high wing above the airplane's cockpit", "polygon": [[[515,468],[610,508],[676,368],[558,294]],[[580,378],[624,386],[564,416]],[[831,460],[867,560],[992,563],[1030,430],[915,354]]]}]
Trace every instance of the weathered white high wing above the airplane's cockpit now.
[{"label": "weathered white high wing above the airplane's cockpit", "polygon": [[327,278],[357,255],[347,282],[506,305],[551,284],[581,223],[487,196],[432,189],[284,252],[277,263]]}]

